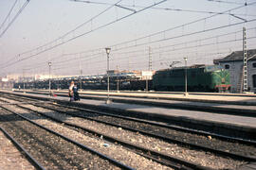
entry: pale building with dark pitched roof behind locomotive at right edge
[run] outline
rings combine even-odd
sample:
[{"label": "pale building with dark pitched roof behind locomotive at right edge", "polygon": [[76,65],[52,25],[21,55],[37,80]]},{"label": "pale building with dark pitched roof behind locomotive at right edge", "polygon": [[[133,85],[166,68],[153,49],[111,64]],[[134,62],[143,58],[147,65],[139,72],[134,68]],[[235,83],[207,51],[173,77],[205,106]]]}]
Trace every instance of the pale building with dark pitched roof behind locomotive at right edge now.
[{"label": "pale building with dark pitched roof behind locomotive at right edge", "polygon": [[[243,51],[232,52],[223,59],[214,59],[213,62],[229,70],[231,92],[241,93],[241,87],[243,87]],[[248,92],[256,92],[256,49],[247,50],[247,87]]]}]

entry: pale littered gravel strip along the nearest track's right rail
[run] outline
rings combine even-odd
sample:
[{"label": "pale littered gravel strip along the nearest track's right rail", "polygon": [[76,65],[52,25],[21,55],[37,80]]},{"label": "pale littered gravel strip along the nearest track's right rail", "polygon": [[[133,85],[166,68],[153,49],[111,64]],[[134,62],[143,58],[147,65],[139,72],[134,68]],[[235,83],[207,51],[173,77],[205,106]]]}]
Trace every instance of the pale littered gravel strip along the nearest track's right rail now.
[{"label": "pale littered gravel strip along the nearest track's right rail", "polygon": [[[33,119],[35,122],[39,123],[40,125],[43,125],[55,131],[58,131],[79,143],[82,143],[82,144],[88,145],[91,148],[97,149],[101,153],[115,160],[121,161],[122,163],[129,165],[131,167],[134,167],[136,169],[171,169],[170,167],[163,166],[159,163],[156,163],[155,161],[145,159],[144,157],[141,157],[140,155],[137,155],[136,153],[123,148],[121,145],[106,144],[104,140],[85,136],[76,130],[53,123],[52,121],[48,121],[42,116],[36,115],[34,113],[29,113],[27,110],[17,109],[17,107],[15,106],[8,106],[8,108],[11,110],[15,110],[17,112],[21,112],[24,116],[26,116],[27,118]],[[33,108],[33,107],[29,106],[29,108]]]}]

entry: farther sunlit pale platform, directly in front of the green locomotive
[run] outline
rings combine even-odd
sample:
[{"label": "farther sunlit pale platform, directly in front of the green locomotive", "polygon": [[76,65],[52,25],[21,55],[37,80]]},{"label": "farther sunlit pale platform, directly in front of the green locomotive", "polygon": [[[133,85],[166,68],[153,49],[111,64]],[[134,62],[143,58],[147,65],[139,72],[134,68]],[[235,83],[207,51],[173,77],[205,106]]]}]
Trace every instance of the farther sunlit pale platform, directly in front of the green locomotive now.
[{"label": "farther sunlit pale platform, directly in front of the green locomotive", "polygon": [[[23,92],[14,90],[16,92]],[[27,93],[48,93],[48,90],[40,91],[26,91]],[[54,91],[55,93],[65,93],[67,90]],[[106,91],[82,91],[81,95],[102,95],[106,96]],[[119,92],[110,91],[110,96],[117,97],[137,97],[137,98],[149,98],[149,99],[162,99],[162,100],[176,100],[176,101],[192,101],[192,102],[206,102],[206,103],[218,103],[229,105],[247,105],[256,106],[256,94],[253,93],[144,93],[144,92]]]}]

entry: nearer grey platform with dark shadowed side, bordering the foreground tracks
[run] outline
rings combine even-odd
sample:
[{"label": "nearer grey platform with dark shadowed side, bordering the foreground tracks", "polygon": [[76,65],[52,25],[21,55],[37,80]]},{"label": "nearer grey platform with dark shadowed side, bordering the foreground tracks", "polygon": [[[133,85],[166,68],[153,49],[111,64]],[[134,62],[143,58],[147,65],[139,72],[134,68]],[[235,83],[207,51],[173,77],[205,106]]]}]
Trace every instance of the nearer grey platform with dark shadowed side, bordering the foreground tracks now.
[{"label": "nearer grey platform with dark shadowed side, bordering the foreground tracks", "polygon": [[[9,92],[13,93],[13,92]],[[230,115],[224,113],[213,113],[208,111],[198,111],[198,110],[178,110],[170,108],[160,108],[156,106],[145,106],[138,104],[128,104],[112,102],[111,104],[106,104],[104,100],[91,100],[82,99],[81,101],[68,102],[68,98],[64,96],[50,97],[42,94],[30,94],[30,93],[19,93],[20,95],[31,95],[34,97],[45,98],[46,100],[58,101],[67,105],[80,105],[89,108],[96,108],[98,110],[115,110],[121,112],[129,112],[140,116],[145,116],[151,119],[167,121],[172,125],[182,126],[182,127],[193,127],[199,130],[206,130],[210,132],[215,132],[223,135],[229,135],[233,137],[252,139],[256,141],[256,117],[253,116],[242,116],[242,115]],[[144,100],[143,98],[137,98],[137,100]],[[153,99],[150,99],[153,100]],[[135,101],[134,103],[136,103]],[[150,102],[150,101],[148,101]],[[157,100],[157,102],[160,102]],[[170,100],[170,102],[174,102]],[[175,101],[180,105],[190,106],[190,102],[187,101]],[[197,107],[202,107],[207,104],[212,105],[212,103],[202,104],[197,103]],[[195,106],[195,104],[193,103]],[[216,104],[214,107],[227,108],[226,105]],[[243,111],[247,106],[233,106]],[[245,108],[246,107],[246,108]],[[256,113],[255,106],[249,106],[253,113]]]}]

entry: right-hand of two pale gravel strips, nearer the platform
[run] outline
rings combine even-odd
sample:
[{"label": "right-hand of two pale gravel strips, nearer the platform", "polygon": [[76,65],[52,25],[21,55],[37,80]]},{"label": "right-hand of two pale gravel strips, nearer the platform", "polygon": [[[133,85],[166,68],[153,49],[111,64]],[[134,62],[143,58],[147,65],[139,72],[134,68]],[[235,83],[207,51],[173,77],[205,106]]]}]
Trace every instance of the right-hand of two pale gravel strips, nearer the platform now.
[{"label": "right-hand of two pale gravel strips, nearer the platform", "polygon": [[168,144],[161,140],[157,140],[155,138],[150,138],[143,136],[141,134],[137,134],[134,132],[130,132],[127,130],[123,130],[119,127],[110,127],[105,126],[103,124],[99,124],[93,121],[87,121],[81,118],[76,118],[68,115],[64,115],[61,113],[56,113],[51,110],[46,109],[38,109],[36,107],[29,106],[30,109],[38,110],[41,112],[45,112],[47,115],[56,117],[60,120],[65,120],[66,122],[80,125],[82,127],[91,128],[97,131],[101,131],[102,133],[111,135],[113,137],[119,137],[124,141],[131,142],[137,145],[143,145],[148,148],[152,148],[155,151],[160,151],[175,157],[179,157],[188,161],[193,161],[199,163],[203,166],[209,166],[211,168],[236,168],[243,164],[243,161],[233,161],[228,158],[216,157],[208,152],[197,151],[188,149],[186,147],[181,147],[177,144]]}]

